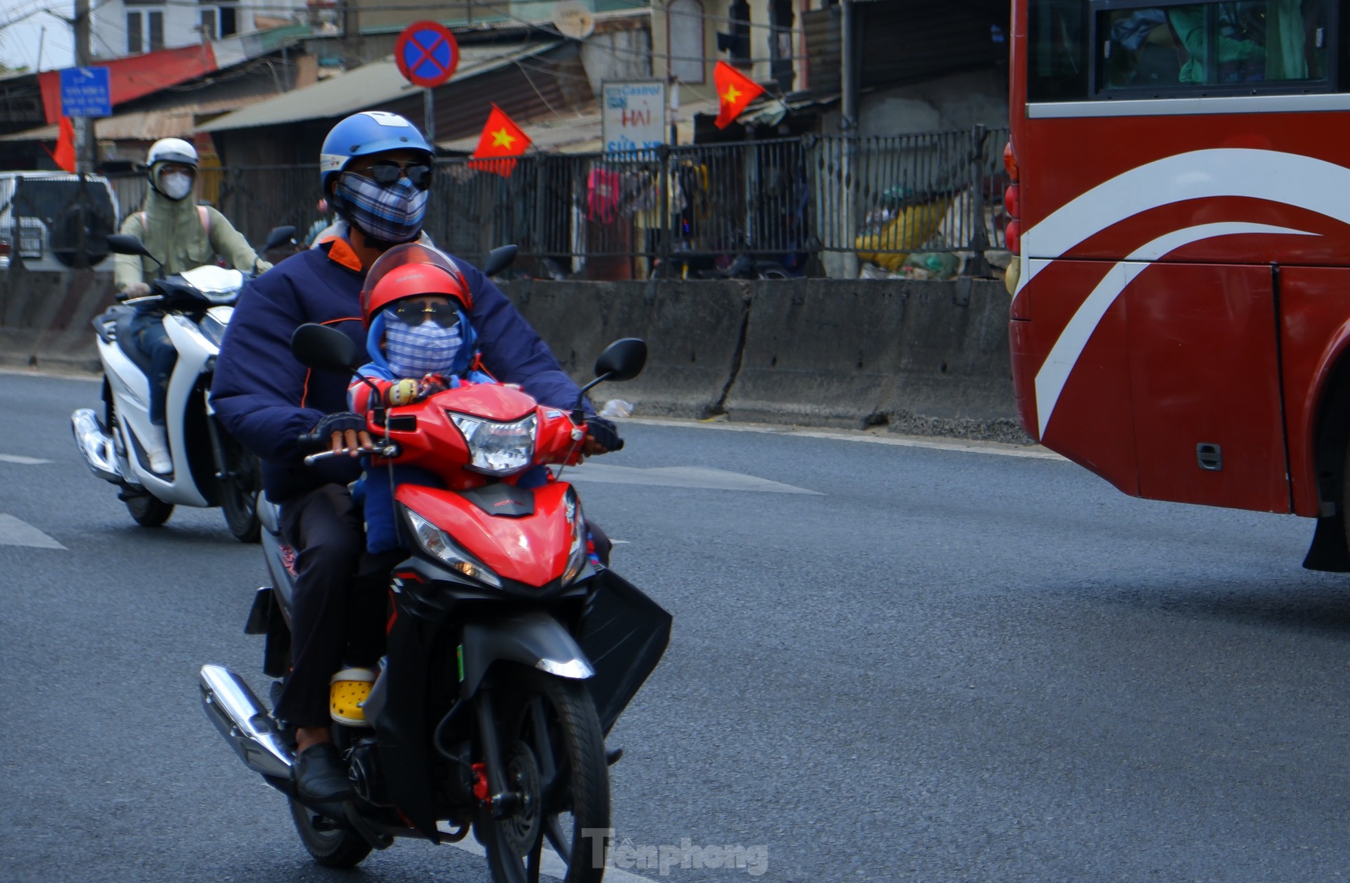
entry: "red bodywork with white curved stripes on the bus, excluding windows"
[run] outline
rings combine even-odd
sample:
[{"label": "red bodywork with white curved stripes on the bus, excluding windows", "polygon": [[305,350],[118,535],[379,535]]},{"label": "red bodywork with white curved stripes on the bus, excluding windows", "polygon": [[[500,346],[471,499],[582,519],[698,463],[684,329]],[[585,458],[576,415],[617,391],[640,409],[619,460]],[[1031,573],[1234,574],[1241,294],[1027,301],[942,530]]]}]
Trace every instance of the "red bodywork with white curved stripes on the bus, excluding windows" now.
[{"label": "red bodywork with white curved stripes on the bus, excluding windows", "polygon": [[[1266,103],[1280,112],[1158,99],[1156,113],[1088,100],[1038,116],[1053,105],[1027,105],[1027,32],[1014,0],[1023,428],[1126,493],[1327,514],[1318,432],[1350,358],[1350,112],[1289,95]],[[1200,467],[1199,443],[1222,447],[1222,471]]]}]

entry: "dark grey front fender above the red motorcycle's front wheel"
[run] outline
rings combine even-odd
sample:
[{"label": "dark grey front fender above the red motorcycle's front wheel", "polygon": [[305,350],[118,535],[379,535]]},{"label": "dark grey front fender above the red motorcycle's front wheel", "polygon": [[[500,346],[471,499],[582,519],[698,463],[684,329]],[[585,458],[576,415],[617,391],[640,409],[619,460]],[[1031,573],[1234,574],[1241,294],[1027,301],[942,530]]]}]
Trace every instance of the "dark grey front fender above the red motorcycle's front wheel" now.
[{"label": "dark grey front fender above the red motorcycle's front wheel", "polygon": [[520,663],[575,680],[595,674],[576,640],[543,610],[520,610],[466,624],[458,662],[460,695],[466,699],[478,693],[497,662]]}]

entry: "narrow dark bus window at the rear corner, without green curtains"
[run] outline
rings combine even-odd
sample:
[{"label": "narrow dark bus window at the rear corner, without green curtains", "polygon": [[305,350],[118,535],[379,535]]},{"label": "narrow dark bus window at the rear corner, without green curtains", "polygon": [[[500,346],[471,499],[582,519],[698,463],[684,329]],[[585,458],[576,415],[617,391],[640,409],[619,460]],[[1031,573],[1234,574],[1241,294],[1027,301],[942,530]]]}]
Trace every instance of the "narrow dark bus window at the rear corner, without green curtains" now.
[{"label": "narrow dark bus window at the rear corner, without green curtains", "polygon": [[1087,0],[1031,0],[1027,12],[1027,100],[1081,101],[1091,97]]}]

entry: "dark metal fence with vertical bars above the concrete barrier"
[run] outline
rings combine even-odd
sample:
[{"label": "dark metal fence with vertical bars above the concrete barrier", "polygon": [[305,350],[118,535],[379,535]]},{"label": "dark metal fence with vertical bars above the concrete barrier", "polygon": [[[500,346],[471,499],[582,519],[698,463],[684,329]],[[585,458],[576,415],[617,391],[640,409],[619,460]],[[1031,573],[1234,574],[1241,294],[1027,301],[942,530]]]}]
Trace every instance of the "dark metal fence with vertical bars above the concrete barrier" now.
[{"label": "dark metal fence with vertical bars above the concrete barrier", "polygon": [[[848,252],[890,271],[911,254],[954,254],[938,263],[979,273],[1003,247],[1006,142],[1007,130],[976,127],[441,159],[427,231],[470,261],[516,243],[517,267],[554,277],[818,275],[825,255]],[[119,196],[124,213],[139,205],[127,185]],[[319,217],[317,166],[202,169],[198,197],[251,242],[279,224],[304,234]]]}]

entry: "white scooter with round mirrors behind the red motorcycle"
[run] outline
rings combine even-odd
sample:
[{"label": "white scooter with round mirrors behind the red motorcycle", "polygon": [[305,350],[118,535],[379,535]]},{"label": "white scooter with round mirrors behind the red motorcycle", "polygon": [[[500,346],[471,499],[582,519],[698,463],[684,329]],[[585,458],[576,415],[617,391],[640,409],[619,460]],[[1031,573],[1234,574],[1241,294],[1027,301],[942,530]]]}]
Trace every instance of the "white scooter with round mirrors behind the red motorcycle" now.
[{"label": "white scooter with round mirrors behind the red motorcycle", "polygon": [[[294,227],[278,227],[259,254],[290,240]],[[135,236],[115,234],[108,246],[117,254],[144,255],[159,262]],[[254,266],[256,270],[256,265]],[[220,506],[230,532],[242,543],[256,543],[258,460],[216,421],[211,408],[211,378],[225,325],[247,277],[239,270],[201,266],[150,284],[150,294],[111,306],[93,320],[103,363],[103,420],[90,408],[70,414],[76,444],[97,478],[116,485],[117,498],[144,527],[169,520],[176,505]],[[150,356],[131,333],[136,306],[157,304],[178,350],[165,404],[173,471],[150,469],[143,439],[150,424]]]}]

